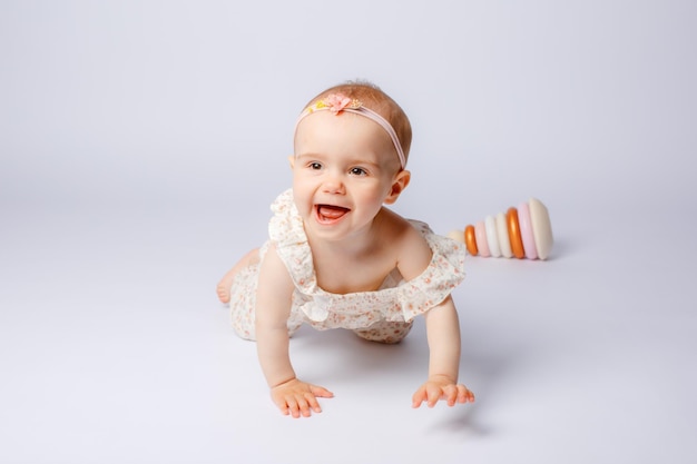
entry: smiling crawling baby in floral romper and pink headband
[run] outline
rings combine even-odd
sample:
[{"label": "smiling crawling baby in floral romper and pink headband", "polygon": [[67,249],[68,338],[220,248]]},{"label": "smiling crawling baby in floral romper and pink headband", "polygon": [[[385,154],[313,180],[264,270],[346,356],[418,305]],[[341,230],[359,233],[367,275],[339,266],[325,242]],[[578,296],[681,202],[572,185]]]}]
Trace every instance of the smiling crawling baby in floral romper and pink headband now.
[{"label": "smiling crawling baby in floral romper and pink headband", "polygon": [[429,375],[412,406],[474,401],[458,383],[460,325],[451,292],[464,278],[464,246],[387,209],[409,185],[411,126],[370,83],[313,98],[295,128],[293,188],[272,205],[269,239],[217,286],[233,326],[256,339],[273,402],[293,417],[320,413],[328,389],[298,378],[288,340],[301,324],[347,328],[397,343],[425,318]]}]

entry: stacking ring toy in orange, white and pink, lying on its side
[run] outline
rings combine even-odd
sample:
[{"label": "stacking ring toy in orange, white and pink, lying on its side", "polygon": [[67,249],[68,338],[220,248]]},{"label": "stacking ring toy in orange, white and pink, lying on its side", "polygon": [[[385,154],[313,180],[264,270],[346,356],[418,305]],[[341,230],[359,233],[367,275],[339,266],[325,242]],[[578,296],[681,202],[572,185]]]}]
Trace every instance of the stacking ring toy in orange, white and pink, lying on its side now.
[{"label": "stacking ring toy in orange, white and pink, lying on its side", "polygon": [[547,259],[552,249],[552,226],[542,201],[530,198],[505,213],[487,216],[449,236],[465,244],[472,256]]}]

